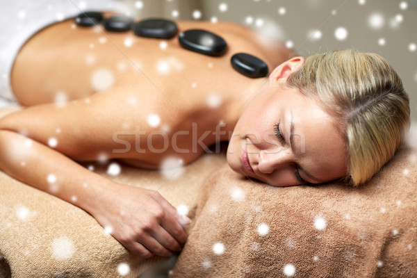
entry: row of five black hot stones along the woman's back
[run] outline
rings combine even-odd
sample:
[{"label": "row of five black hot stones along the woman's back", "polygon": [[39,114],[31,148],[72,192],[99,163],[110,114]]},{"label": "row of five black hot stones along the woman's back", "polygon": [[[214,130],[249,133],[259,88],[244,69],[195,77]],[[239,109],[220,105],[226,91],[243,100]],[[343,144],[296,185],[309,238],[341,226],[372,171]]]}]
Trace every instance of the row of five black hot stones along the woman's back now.
[{"label": "row of five black hot stones along the woman's back", "polygon": [[[178,33],[177,24],[167,19],[143,19],[134,22],[131,17],[115,15],[104,18],[102,13],[85,12],[74,18],[77,25],[92,27],[102,24],[110,32],[133,31],[135,35],[145,38],[170,39]],[[208,56],[222,56],[227,42],[215,33],[190,29],[179,33],[179,44],[184,49]],[[251,78],[264,77],[268,74],[268,65],[251,54],[237,53],[231,57],[231,65],[240,74]]]}]

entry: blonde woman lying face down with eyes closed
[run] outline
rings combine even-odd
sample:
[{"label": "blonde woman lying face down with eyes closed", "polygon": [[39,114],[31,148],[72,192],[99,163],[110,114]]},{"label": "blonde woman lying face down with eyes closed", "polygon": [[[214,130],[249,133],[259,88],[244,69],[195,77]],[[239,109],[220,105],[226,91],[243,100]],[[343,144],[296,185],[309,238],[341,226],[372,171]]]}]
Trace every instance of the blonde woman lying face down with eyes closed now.
[{"label": "blonde woman lying face down with eyes closed", "polygon": [[[88,211],[131,252],[169,256],[186,243],[182,226],[190,220],[158,193],[74,161],[119,159],[155,169],[167,158],[190,163],[229,140],[227,161],[247,177],[273,186],[341,178],[357,185],[404,138],[408,98],[376,54],[304,60],[236,24],[177,24],[180,32],[221,35],[227,53],[203,56],[177,38],[161,44],[71,20],[36,33],[13,65],[15,97],[28,108],[0,120],[0,169]],[[264,60],[270,76],[235,72],[229,60],[238,52]],[[105,84],[96,82],[100,76]]]}]

